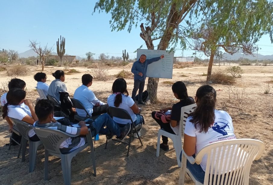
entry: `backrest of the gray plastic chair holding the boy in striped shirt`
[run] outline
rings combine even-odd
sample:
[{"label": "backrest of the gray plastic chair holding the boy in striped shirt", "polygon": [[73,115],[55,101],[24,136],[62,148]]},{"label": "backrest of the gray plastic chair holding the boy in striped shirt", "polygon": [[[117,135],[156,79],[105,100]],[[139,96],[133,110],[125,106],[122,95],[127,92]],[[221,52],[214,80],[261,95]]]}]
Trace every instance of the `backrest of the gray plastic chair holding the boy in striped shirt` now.
[{"label": "backrest of the gray plastic chair holding the boy in striped shirt", "polygon": [[56,129],[48,129],[42,127],[33,127],[33,129],[36,135],[42,141],[43,145],[45,146],[45,149],[57,155],[61,154],[60,145],[62,144],[62,142],[64,142],[66,139],[70,137],[77,136],[70,135]]}]

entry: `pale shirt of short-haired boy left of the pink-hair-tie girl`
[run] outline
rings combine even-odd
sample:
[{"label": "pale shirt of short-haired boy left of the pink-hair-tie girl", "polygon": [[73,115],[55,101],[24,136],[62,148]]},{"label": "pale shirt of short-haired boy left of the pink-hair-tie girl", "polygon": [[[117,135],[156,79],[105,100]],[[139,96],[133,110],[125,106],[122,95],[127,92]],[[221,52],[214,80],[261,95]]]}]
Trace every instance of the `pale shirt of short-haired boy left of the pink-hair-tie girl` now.
[{"label": "pale shirt of short-haired boy left of the pink-hair-tie girl", "polygon": [[[75,90],[73,98],[79,100],[90,115],[93,113],[95,104],[99,103],[100,105],[105,105],[105,103],[97,99],[94,92],[85,85],[81,85]],[[76,112],[79,116],[86,116],[85,110],[76,108]]]}]

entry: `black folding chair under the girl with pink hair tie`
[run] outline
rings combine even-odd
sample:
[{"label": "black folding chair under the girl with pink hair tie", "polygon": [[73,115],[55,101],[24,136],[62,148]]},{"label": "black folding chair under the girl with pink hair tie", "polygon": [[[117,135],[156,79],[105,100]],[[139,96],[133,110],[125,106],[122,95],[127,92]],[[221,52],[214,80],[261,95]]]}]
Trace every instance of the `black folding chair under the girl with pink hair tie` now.
[{"label": "black folding chair under the girl with pink hair tie", "polygon": [[[121,142],[121,143],[123,143],[123,144],[128,145],[128,151],[127,151],[127,155],[126,155],[126,156],[128,157],[128,156],[129,156],[129,150],[130,150],[130,145],[131,145],[131,139],[132,139],[132,137],[133,137],[133,138],[138,138],[139,141],[140,141],[140,143],[141,143],[141,146],[143,146],[143,144],[142,144],[142,142],[141,142],[141,139],[140,139],[140,136],[138,135],[138,130],[141,129],[142,123],[140,123],[140,124],[138,124],[137,126],[135,126],[135,124],[134,124],[134,122],[133,122],[133,120],[132,120],[130,114],[129,114],[126,110],[124,110],[124,109],[117,108],[117,107],[107,107],[106,110],[107,110],[107,113],[108,113],[111,117],[117,117],[117,118],[120,118],[120,119],[131,120],[131,122],[132,122],[132,126],[133,126],[133,127],[131,127],[131,132],[128,134],[128,136],[130,136],[130,137],[129,137],[129,142],[128,142],[128,143],[122,142],[122,141],[119,141],[119,140],[116,140],[116,139],[112,139],[112,140],[114,140],[114,141],[116,141],[116,142]],[[133,133],[136,133],[138,137],[132,136]],[[106,140],[106,143],[105,143],[105,149],[106,149],[106,147],[107,147],[107,140]]]}]

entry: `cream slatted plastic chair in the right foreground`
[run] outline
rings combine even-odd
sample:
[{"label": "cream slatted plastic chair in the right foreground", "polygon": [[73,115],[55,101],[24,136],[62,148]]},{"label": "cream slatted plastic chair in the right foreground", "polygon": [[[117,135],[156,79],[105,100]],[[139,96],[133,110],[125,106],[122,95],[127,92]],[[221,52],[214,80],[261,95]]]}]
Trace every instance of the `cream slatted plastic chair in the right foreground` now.
[{"label": "cream slatted plastic chair in the right foreground", "polygon": [[[183,150],[179,184],[184,184],[187,172],[195,184],[198,182],[186,167],[187,159],[191,164],[200,164],[207,155],[204,184],[249,184],[249,171],[253,160],[258,160],[265,150],[265,144],[256,139],[234,139],[218,141],[204,146],[195,158]],[[221,152],[218,152],[221,151]],[[214,175],[210,175],[214,174]],[[217,175],[215,175],[217,174]],[[222,178],[223,175],[227,175]]]}]

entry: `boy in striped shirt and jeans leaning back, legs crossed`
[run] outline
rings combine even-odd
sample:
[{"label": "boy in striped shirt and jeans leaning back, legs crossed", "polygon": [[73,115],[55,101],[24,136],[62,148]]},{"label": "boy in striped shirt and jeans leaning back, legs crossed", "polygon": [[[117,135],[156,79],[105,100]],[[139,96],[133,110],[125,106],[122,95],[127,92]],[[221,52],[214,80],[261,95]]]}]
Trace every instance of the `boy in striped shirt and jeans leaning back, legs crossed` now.
[{"label": "boy in striped shirt and jeans leaning back, legs crossed", "polygon": [[[124,128],[119,129],[119,126],[113,122],[111,117],[108,114],[103,114],[99,116],[96,120],[87,119],[87,121],[80,121],[79,125],[81,128],[64,126],[61,123],[53,123],[53,111],[54,104],[52,101],[39,100],[35,106],[35,113],[37,114],[38,121],[35,122],[35,126],[44,127],[49,129],[58,129],[63,132],[72,134],[72,135],[86,135],[88,133],[88,128],[91,130],[91,135],[96,136],[100,131],[108,132],[106,139],[112,139],[112,135],[116,135],[118,138],[123,139],[126,136],[128,130],[130,130],[130,125],[126,125]],[[90,124],[86,126],[86,124]],[[106,128],[104,128],[106,126]],[[87,142],[85,137],[73,137],[66,139],[60,146],[60,151],[62,153],[71,152]]]}]

